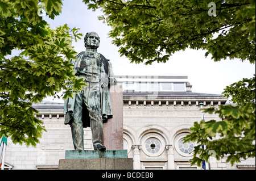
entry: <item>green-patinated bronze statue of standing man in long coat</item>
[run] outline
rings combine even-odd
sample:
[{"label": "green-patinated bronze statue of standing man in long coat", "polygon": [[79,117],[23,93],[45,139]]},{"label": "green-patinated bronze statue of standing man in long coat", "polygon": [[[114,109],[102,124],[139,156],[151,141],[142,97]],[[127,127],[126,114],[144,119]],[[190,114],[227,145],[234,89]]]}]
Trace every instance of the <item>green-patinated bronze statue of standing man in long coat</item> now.
[{"label": "green-patinated bronze statue of standing man in long coat", "polygon": [[84,150],[84,130],[92,130],[95,150],[104,151],[102,145],[103,121],[112,117],[109,87],[116,84],[112,65],[102,54],[97,53],[100,37],[96,32],[88,32],[84,37],[86,50],[72,60],[75,73],[85,78],[88,86],[74,98],[64,102],[65,124],[71,125],[75,150]]}]

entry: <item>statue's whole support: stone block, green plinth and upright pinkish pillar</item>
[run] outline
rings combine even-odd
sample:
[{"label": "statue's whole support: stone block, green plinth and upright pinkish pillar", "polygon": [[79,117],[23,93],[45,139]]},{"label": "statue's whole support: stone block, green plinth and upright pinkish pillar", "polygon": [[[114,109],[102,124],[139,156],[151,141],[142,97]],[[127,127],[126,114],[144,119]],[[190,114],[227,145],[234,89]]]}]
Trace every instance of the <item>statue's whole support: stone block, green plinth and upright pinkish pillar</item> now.
[{"label": "statue's whole support: stone block, green plinth and upright pinkish pillar", "polygon": [[67,150],[60,159],[61,170],[132,170],[133,158],[123,150],[123,92],[122,86],[110,87],[113,118],[103,124],[102,144],[106,151]]}]

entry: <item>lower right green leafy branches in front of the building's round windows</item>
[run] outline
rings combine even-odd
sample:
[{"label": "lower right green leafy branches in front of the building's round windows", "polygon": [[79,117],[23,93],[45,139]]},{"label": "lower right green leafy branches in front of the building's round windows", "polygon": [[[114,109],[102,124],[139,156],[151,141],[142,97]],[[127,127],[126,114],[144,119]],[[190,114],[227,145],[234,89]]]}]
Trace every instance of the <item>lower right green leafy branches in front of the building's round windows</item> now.
[{"label": "lower right green leafy branches in front of the building's round windows", "polygon": [[[226,87],[224,95],[231,97],[237,106],[203,109],[204,112],[216,113],[222,121],[195,122],[191,128],[192,133],[184,138],[184,141],[195,141],[198,144],[192,164],[200,165],[203,159],[208,161],[212,150],[214,157],[227,157],[227,162],[232,165],[240,162],[241,158],[255,157],[255,76]],[[202,149],[203,145],[207,149]]]}]

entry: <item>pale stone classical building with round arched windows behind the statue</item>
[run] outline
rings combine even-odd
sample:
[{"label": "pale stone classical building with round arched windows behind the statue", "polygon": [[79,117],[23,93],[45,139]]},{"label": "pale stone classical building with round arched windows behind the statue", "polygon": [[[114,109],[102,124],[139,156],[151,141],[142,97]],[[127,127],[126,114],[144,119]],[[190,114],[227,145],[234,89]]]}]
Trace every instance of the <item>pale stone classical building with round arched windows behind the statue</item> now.
[{"label": "pale stone classical building with round arched windows behind the statue", "polygon": [[[203,108],[226,103],[221,95],[191,91],[186,76],[116,76],[123,87],[123,145],[134,169],[197,169],[191,166],[195,143],[184,143],[195,121],[201,120]],[[71,129],[64,125],[63,103],[42,102],[34,105],[44,121],[36,148],[14,145],[8,140],[6,169],[58,169],[65,150],[73,150]],[[205,120],[220,120],[204,114]],[[84,128],[85,149],[93,149],[90,128]],[[214,151],[214,150],[213,150]],[[255,169],[255,159],[231,166],[225,158],[211,157],[209,169]]]}]

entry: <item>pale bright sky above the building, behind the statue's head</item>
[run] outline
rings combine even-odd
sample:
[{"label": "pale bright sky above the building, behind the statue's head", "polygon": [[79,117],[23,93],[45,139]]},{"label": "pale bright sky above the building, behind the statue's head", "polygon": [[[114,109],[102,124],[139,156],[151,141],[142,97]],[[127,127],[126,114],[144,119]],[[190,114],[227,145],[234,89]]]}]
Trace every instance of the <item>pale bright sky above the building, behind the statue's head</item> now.
[{"label": "pale bright sky above the building, behind the statue's head", "polygon": [[[101,38],[98,52],[112,62],[115,75],[184,75],[192,85],[192,92],[221,94],[226,86],[251,78],[255,74],[255,65],[249,61],[222,60],[214,62],[211,55],[205,57],[205,50],[186,49],[170,57],[167,63],[153,63],[152,65],[131,64],[126,57],[120,57],[118,47],[112,44],[108,36],[111,27],[98,20],[102,15],[100,10],[88,10],[82,0],[64,0],[63,9],[54,20],[44,19],[52,28],[68,24],[69,28],[80,28],[83,37],[86,32],[95,31]],[[85,50],[83,37],[73,46],[77,53]],[[52,99],[51,99],[52,100]]]}]

